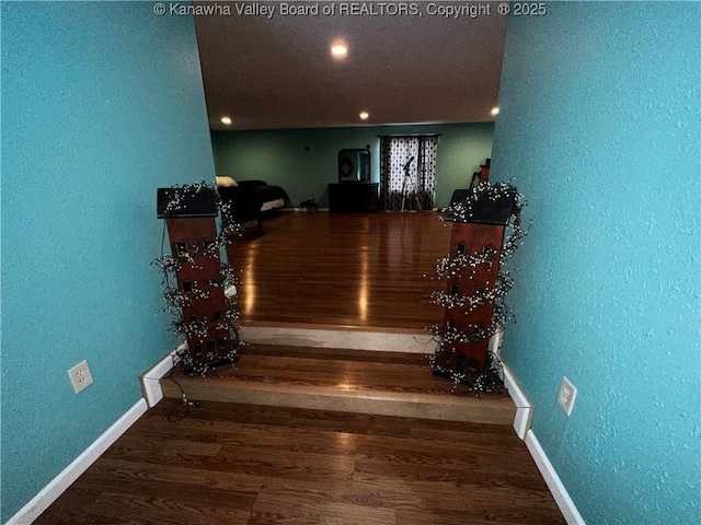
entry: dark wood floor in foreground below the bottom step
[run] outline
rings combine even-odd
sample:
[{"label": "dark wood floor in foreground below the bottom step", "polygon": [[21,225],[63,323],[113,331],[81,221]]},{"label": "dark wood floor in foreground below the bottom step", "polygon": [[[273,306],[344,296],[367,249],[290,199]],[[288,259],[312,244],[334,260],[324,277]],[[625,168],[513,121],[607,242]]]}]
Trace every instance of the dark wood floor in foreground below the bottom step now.
[{"label": "dark wood floor in foreground below the bottom step", "polygon": [[161,401],[35,523],[564,523],[507,427],[216,402],[183,412]]}]

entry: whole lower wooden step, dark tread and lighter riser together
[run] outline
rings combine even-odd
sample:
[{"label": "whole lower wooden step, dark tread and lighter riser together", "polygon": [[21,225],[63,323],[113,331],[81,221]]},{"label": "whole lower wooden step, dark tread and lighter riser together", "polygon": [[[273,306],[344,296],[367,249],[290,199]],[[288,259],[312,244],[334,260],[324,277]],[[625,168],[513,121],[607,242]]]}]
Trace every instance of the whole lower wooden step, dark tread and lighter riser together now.
[{"label": "whole lower wooden step, dark tread and lighter riser together", "polygon": [[[416,419],[510,425],[516,407],[506,390],[453,390],[416,353],[250,345],[235,366],[206,377],[182,366],[161,380],[165,397]],[[181,392],[182,388],[182,392]]]}]

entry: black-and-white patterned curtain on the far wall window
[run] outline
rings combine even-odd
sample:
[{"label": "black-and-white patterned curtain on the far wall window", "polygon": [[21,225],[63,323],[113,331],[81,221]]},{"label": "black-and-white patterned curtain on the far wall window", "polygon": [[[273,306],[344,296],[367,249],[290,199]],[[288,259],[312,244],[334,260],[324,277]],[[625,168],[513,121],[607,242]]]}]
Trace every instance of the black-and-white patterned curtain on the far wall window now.
[{"label": "black-and-white patterned curtain on the far wall window", "polygon": [[[380,138],[381,209],[384,211],[433,209],[437,151],[438,136],[436,135]],[[409,167],[407,171],[406,167]]]}]

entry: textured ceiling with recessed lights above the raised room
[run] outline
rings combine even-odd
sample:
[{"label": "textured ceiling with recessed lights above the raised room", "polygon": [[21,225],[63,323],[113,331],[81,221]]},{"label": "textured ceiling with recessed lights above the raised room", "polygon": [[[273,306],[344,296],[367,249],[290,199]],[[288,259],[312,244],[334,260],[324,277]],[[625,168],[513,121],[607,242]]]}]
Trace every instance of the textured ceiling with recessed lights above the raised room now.
[{"label": "textured ceiling with recessed lights above the raised room", "polygon": [[[303,3],[315,2],[295,4]],[[320,10],[332,3],[344,2]],[[414,16],[284,16],[280,2],[257,4],[275,7],[274,15],[239,15],[237,2],[231,15],[195,16],[211,129],[494,120],[506,16],[448,19],[426,2]],[[364,5],[379,13],[388,4]],[[331,55],[336,40],[347,44],[343,60]]]}]

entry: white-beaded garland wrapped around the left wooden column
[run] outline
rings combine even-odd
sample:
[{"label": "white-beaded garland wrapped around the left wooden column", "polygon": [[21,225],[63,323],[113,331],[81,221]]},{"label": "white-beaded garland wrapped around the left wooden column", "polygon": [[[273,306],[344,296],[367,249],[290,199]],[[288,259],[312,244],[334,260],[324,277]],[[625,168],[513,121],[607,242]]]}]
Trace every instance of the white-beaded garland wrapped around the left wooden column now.
[{"label": "white-beaded garland wrapped around the left wooden column", "polygon": [[[202,253],[198,253],[200,249],[198,246],[194,246],[193,254],[202,255],[204,257],[217,257],[220,252],[226,250],[227,246],[231,243],[231,237],[233,235],[241,234],[240,224],[228,220],[231,213],[231,205],[229,202],[222,202],[219,197],[219,191],[217,188],[206,182],[194,183],[187,185],[175,185],[172,186],[173,189],[180,189],[180,191],[174,191],[171,200],[168,202],[165,207],[165,212],[173,212],[184,208],[184,202],[192,201],[192,198],[196,197],[197,194],[203,191],[204,189],[214,190],[216,195],[216,205],[217,209],[222,218],[221,228],[219,229],[219,233],[212,243],[208,246],[204,247]],[[165,224],[163,224],[163,241],[165,240]],[[229,359],[231,362],[235,360],[239,354],[239,350],[245,343],[241,341],[239,338],[239,331],[241,328],[241,314],[239,312],[239,306],[237,302],[235,295],[228,295],[225,293],[227,311],[222,314],[221,318],[210,323],[205,324],[200,320],[197,322],[185,322],[183,318],[183,306],[187,306],[192,304],[193,299],[202,300],[209,298],[209,290],[200,290],[199,288],[193,287],[192,291],[183,292],[180,290],[177,284],[171,284],[171,276],[174,278],[175,272],[179,271],[183,267],[184,264],[192,265],[193,268],[202,269],[202,267],[196,266],[195,259],[193,255],[188,252],[183,254],[180,257],[173,257],[170,254],[163,253],[163,247],[161,246],[161,256],[156,258],[151,264],[156,265],[163,273],[163,279],[161,281],[162,284],[165,285],[165,291],[163,292],[163,299],[165,301],[164,312],[170,313],[175,317],[175,319],[171,323],[173,331],[179,335],[179,337],[206,337],[208,330],[210,328],[214,329],[223,329],[229,330],[229,336],[231,340],[231,351],[223,358]],[[238,285],[239,279],[235,271],[229,266],[228,262],[220,264],[219,275],[221,277],[221,287],[226,290],[231,285]],[[187,349],[183,349],[177,353],[179,358],[183,361],[183,365],[186,370],[191,370],[193,374],[206,375],[209,372],[209,366],[207,363],[200,363],[192,359]],[[207,361],[212,361],[215,358],[214,354],[207,354]]]}]

